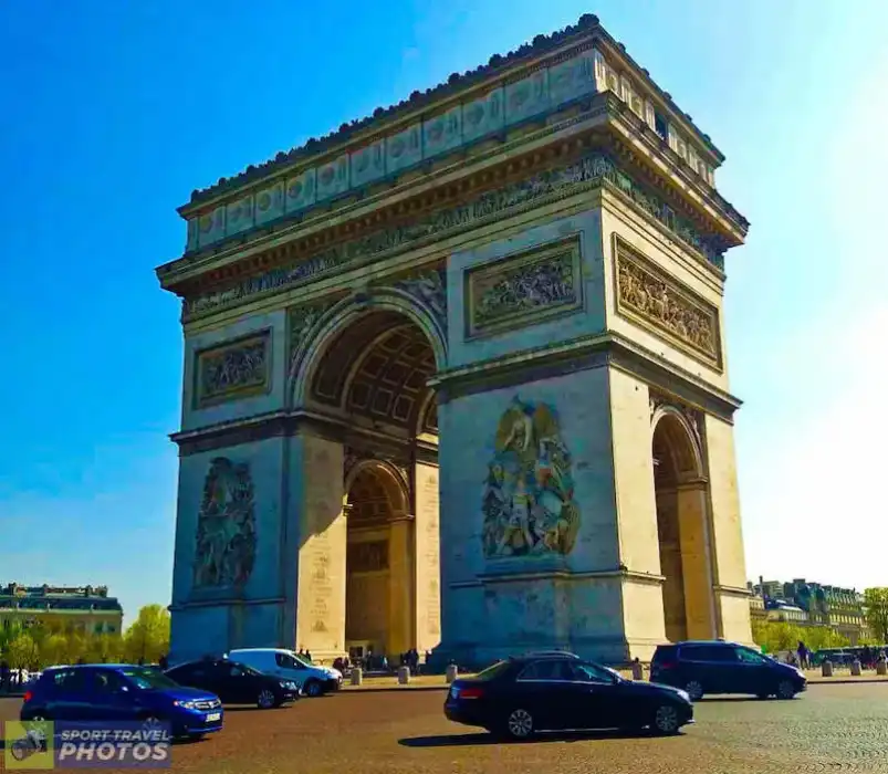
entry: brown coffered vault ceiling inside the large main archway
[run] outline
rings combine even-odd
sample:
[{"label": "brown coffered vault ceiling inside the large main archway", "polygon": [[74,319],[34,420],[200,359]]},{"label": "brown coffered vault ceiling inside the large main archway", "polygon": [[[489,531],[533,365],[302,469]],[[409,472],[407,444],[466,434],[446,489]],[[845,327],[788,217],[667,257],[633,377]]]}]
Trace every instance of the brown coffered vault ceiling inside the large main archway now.
[{"label": "brown coffered vault ceiling inside the large main archway", "polygon": [[374,312],[332,342],[311,394],[349,415],[437,435],[435,397],[427,387],[435,372],[435,353],[415,323],[397,312]]}]

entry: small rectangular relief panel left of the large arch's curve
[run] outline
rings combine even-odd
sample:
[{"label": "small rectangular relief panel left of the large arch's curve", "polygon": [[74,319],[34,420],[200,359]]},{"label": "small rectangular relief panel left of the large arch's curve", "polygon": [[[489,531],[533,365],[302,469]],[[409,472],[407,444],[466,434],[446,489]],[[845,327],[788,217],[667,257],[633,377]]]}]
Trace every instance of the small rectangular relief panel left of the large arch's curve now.
[{"label": "small rectangular relief panel left of the large arch's curve", "polygon": [[196,404],[203,408],[265,393],[271,383],[271,332],[197,353]]}]

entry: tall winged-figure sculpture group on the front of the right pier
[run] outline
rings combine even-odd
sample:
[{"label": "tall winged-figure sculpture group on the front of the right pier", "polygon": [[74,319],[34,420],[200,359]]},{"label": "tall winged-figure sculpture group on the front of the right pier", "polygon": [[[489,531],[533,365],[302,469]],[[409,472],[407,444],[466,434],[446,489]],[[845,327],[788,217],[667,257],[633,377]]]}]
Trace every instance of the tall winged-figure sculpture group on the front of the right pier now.
[{"label": "tall winged-figure sculpture group on the front of the right pier", "polygon": [[481,504],[484,556],[571,553],[581,516],[555,409],[515,396],[500,418],[495,450]]}]

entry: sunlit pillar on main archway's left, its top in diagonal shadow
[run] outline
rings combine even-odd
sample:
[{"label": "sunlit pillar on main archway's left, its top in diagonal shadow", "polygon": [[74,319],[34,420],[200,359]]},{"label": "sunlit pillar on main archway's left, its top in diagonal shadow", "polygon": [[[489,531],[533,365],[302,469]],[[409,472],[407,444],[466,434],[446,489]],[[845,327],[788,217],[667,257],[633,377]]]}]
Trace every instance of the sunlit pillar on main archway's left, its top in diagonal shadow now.
[{"label": "sunlit pillar on main archway's left, its top in diagonal shadow", "polygon": [[[346,519],[343,491],[343,447],[309,435],[292,439],[291,513],[297,535],[296,648],[315,659],[345,651]],[[290,561],[284,557],[284,563]]]}]

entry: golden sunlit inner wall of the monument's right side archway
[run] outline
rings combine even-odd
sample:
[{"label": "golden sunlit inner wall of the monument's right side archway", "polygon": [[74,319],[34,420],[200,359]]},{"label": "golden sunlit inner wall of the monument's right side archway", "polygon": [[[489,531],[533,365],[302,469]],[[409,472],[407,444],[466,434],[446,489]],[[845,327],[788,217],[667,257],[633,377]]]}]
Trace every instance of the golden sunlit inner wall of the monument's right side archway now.
[{"label": "golden sunlit inner wall of the monument's right side archway", "polygon": [[677,495],[688,639],[715,639],[707,484],[704,481],[682,484]]}]

